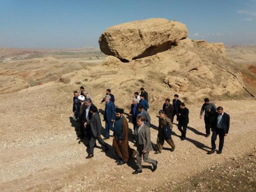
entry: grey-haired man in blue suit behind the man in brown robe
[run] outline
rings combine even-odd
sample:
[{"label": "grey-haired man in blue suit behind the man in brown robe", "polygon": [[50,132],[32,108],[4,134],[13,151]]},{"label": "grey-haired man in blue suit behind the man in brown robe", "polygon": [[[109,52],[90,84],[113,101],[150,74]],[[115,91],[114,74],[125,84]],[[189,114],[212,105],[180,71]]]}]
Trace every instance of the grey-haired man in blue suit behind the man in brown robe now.
[{"label": "grey-haired man in blue suit behind the man in brown robe", "polygon": [[109,139],[109,130],[114,131],[113,122],[115,120],[115,104],[110,99],[110,95],[105,96],[105,138],[103,140]]}]

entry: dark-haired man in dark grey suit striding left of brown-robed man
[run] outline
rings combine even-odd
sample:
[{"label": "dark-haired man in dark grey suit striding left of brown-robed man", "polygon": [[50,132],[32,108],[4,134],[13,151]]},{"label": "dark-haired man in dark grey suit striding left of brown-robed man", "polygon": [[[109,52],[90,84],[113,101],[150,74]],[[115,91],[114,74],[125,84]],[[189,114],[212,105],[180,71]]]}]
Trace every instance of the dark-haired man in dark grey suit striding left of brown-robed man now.
[{"label": "dark-haired man in dark grey suit striding left of brown-robed man", "polygon": [[88,108],[90,110],[91,117],[88,121],[84,123],[84,125],[88,131],[88,135],[90,135],[90,138],[88,138],[88,141],[87,141],[89,143],[90,153],[86,157],[87,159],[90,159],[93,157],[93,149],[96,145],[95,143],[96,140],[98,140],[98,142],[102,146],[104,146],[104,149],[102,150],[102,152],[109,150],[109,148],[107,144],[102,140],[102,137],[101,137],[102,122],[101,122],[100,115],[97,111],[97,107],[91,104],[90,106],[88,106]]}]

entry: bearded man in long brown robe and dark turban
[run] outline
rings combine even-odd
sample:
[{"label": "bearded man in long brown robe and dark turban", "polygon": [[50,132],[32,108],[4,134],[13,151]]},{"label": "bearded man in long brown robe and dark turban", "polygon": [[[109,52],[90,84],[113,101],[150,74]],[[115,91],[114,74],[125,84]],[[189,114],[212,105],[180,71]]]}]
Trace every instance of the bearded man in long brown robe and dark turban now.
[{"label": "bearded man in long brown robe and dark turban", "polygon": [[[117,165],[123,165],[128,162],[129,157],[135,156],[135,150],[131,149],[128,144],[128,121],[123,116],[124,109],[115,109],[115,122],[114,122],[114,139],[113,148],[119,159],[115,162]],[[133,150],[133,151],[132,151]]]}]

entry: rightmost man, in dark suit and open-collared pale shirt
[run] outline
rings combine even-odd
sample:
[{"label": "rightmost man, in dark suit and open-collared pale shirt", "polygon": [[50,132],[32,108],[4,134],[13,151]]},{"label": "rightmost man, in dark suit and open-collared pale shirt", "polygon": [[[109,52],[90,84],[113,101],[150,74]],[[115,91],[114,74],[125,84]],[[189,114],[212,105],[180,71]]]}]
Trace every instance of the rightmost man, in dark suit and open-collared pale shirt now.
[{"label": "rightmost man, in dark suit and open-collared pale shirt", "polygon": [[228,135],[230,129],[230,116],[223,111],[223,107],[217,108],[217,113],[213,121],[213,128],[212,128],[212,150],[209,151],[207,154],[215,153],[216,144],[215,141],[217,140],[217,135],[219,135],[220,143],[219,143],[219,150],[217,154],[222,153],[222,148],[224,145],[224,138]]}]

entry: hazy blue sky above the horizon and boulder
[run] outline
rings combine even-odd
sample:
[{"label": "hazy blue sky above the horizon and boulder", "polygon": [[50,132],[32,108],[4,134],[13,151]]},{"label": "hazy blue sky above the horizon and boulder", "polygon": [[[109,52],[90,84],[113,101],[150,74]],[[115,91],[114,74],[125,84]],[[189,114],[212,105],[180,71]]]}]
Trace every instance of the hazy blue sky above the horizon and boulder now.
[{"label": "hazy blue sky above the horizon and boulder", "polygon": [[106,28],[151,17],[191,39],[256,44],[256,0],[0,0],[0,47],[98,47]]}]

